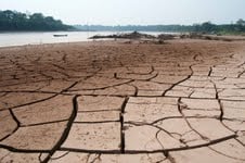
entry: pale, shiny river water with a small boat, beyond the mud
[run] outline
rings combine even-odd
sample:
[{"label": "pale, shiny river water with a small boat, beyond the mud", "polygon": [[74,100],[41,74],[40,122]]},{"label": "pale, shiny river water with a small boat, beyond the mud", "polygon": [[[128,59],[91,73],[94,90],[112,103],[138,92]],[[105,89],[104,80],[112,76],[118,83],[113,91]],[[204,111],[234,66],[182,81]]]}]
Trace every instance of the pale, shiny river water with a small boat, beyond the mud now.
[{"label": "pale, shiny river water with a small boat, beyond the mud", "polygon": [[[116,32],[47,32],[47,33],[0,33],[0,47],[41,45],[55,42],[88,41],[94,35],[112,35]],[[145,33],[158,35],[160,33]],[[67,37],[53,37],[53,35],[67,35]]]}]

